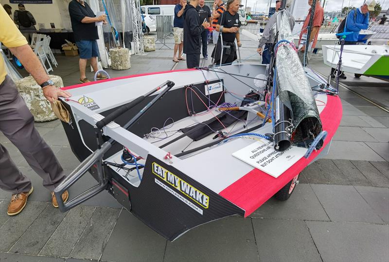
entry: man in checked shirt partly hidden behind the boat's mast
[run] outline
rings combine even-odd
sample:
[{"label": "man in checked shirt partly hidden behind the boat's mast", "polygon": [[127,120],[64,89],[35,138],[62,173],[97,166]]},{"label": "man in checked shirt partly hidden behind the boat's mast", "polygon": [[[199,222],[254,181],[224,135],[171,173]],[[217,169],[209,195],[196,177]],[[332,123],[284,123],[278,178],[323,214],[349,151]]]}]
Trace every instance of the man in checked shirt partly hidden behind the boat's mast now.
[{"label": "man in checked shirt partly hidden behind the boat's mast", "polygon": [[[289,7],[290,1],[287,1],[286,7]],[[277,23],[278,10],[281,7],[281,0],[276,0],[276,13],[270,17],[264,29],[264,33],[259,40],[257,52],[262,55],[262,64],[270,64],[271,49],[273,49],[274,37],[272,32],[273,26]],[[293,31],[295,26],[295,18],[285,9],[285,14],[289,17],[290,29]],[[265,45],[265,48],[264,48]]]}]

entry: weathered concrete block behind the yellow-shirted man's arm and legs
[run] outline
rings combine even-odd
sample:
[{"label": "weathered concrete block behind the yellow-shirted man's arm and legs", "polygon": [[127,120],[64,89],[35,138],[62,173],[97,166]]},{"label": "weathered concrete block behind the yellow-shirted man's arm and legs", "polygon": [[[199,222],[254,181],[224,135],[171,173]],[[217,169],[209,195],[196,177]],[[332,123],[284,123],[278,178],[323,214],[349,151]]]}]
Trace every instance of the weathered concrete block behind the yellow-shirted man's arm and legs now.
[{"label": "weathered concrete block behind the yellow-shirted man's arm and legs", "polygon": [[[54,75],[49,75],[49,77],[53,80],[55,86],[64,86],[61,77]],[[32,76],[17,80],[15,84],[20,96],[24,99],[28,109],[34,115],[35,121],[46,122],[57,119],[50,102],[43,96],[42,88],[35,82]]]}]

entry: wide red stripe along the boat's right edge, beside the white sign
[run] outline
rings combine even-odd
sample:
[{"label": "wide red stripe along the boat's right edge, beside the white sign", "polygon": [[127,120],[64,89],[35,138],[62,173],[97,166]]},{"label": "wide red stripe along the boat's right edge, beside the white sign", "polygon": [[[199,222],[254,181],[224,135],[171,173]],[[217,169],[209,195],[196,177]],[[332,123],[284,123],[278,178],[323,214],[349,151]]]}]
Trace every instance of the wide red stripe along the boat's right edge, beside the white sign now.
[{"label": "wide red stripe along the boat's right edge, beside the white sign", "polygon": [[311,156],[301,158],[278,178],[274,178],[265,172],[254,168],[245,176],[235,181],[219,193],[238,207],[245,210],[245,217],[257,210],[270,197],[277,193],[285,184],[299,174],[320,151],[331,141],[342,118],[342,103],[339,97],[327,96],[327,104],[320,114],[323,130],[327,131],[324,146],[313,151]]}]

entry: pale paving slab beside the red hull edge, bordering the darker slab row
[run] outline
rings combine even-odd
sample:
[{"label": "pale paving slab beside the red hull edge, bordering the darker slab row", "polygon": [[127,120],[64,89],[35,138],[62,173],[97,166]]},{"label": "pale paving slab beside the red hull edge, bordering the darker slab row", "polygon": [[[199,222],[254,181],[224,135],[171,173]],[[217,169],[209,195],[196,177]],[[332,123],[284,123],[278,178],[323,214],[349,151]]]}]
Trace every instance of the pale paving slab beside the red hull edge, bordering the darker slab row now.
[{"label": "pale paving slab beside the red hull edge, bordering the darker slab row", "polygon": [[[384,161],[384,159],[371,149],[367,144],[377,144],[373,142],[353,142],[353,141],[332,141],[330,152],[323,158],[326,159],[347,159]],[[388,144],[387,144],[388,145]]]}]

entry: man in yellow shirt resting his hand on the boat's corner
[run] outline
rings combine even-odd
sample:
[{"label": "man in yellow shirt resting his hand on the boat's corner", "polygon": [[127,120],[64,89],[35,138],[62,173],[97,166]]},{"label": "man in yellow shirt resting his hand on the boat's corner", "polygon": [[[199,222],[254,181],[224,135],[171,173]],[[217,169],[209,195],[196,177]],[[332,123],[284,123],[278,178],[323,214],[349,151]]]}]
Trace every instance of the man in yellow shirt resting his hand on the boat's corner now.
[{"label": "man in yellow shirt resting his hand on the boat's corner", "polygon": [[[40,64],[26,38],[19,32],[11,17],[0,7],[0,42],[19,59],[24,68],[43,88],[49,101],[59,96],[69,98],[70,94],[54,86]],[[15,83],[7,76],[4,61],[0,58],[0,131],[20,150],[27,163],[43,178],[43,185],[52,191],[53,206],[58,207],[54,188],[65,178],[53,150],[39,135],[34,127],[34,116],[20,97]],[[26,205],[28,196],[33,192],[31,180],[21,174],[8,151],[0,144],[0,188],[13,195],[7,213],[16,215]],[[62,195],[68,199],[68,192]]]}]

